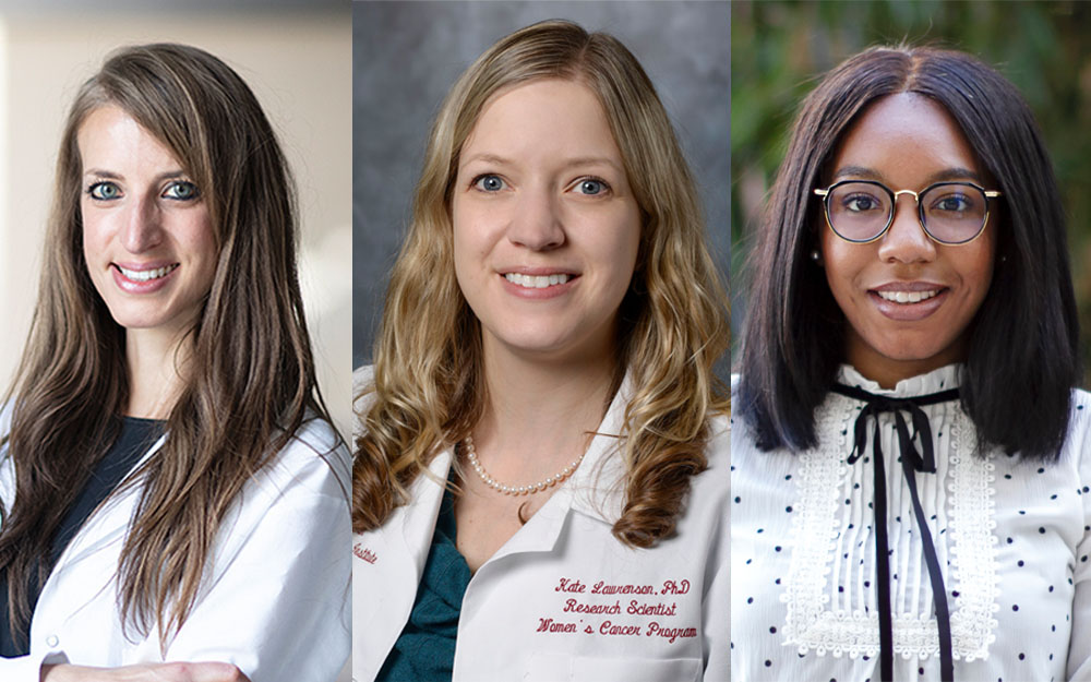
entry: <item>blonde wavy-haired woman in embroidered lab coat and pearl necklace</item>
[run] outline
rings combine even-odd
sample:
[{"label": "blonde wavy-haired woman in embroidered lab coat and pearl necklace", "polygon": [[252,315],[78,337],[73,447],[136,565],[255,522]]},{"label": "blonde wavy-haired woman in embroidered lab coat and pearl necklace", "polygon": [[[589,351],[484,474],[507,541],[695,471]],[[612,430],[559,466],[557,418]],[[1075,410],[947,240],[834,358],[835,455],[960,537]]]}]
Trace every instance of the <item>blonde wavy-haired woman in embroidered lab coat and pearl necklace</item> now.
[{"label": "blonde wavy-haired woman in embroidered lab coat and pearl necklace", "polygon": [[615,38],[535,24],[454,85],[357,375],[357,680],[727,679],[704,240]]}]

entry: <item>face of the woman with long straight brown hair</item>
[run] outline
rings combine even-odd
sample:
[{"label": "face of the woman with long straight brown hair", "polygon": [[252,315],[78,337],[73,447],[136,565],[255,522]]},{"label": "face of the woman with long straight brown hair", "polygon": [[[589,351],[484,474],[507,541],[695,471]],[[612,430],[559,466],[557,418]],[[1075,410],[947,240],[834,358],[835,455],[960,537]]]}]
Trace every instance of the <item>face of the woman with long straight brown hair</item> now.
[{"label": "face of the woman with long straight brown hair", "polygon": [[192,325],[218,248],[201,190],[173,153],[125,111],[92,111],[79,132],[83,250],[115,321],[171,336]]}]

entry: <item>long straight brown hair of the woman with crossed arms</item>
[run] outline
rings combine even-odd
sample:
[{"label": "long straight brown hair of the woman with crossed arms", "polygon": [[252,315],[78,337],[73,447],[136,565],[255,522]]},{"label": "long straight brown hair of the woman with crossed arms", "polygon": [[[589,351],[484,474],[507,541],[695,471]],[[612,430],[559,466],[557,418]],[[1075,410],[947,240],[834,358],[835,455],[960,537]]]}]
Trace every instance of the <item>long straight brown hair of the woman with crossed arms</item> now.
[{"label": "long straight brown hair of the woman with crossed arms", "polygon": [[140,490],[118,565],[120,620],[144,636],[158,626],[165,647],[194,606],[242,487],[305,420],[328,415],[296,272],[293,183],[257,99],[227,64],[193,47],[115,52],[69,112],[38,301],[7,394],[15,496],[0,533],[0,569],[14,630],[26,636],[28,583],[44,584],[52,570],[51,538],[117,438],[111,417],[129,395],[124,330],[95,291],[82,243],[76,135],[107,105],[175,154],[202,192],[219,248],[166,442],[122,486]]}]

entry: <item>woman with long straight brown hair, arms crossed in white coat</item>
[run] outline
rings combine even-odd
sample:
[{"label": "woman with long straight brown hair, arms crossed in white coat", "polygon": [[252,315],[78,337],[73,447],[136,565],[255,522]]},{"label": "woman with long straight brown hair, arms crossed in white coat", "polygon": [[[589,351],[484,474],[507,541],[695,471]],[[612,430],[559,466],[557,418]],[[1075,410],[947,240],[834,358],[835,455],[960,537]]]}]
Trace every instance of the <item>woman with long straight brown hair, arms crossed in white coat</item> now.
[{"label": "woman with long straight brown hair, arms crossed in white coat", "polygon": [[2,415],[3,679],[340,669],[348,463],[296,230],[276,136],[219,59],[124,48],[80,88]]}]

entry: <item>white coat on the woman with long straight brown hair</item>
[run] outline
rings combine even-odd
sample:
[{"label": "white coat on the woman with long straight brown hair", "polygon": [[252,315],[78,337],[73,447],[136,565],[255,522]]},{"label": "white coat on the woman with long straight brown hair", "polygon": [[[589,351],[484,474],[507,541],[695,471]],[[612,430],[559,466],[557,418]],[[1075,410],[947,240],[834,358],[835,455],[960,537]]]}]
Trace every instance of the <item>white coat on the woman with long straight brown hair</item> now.
[{"label": "white coat on the woman with long straight brown hair", "polygon": [[[7,433],[10,417],[0,419]],[[220,526],[196,603],[166,653],[157,629],[146,636],[122,631],[116,574],[139,490],[112,495],[61,554],[34,610],[31,654],[0,658],[0,680],[37,682],[43,663],[178,660],[235,663],[254,682],[334,680],[349,650],[351,571],[344,550],[351,533],[349,456],[335,442],[328,423],[308,422],[242,489]],[[10,506],[14,469],[7,448],[0,455],[0,500]]]}]

